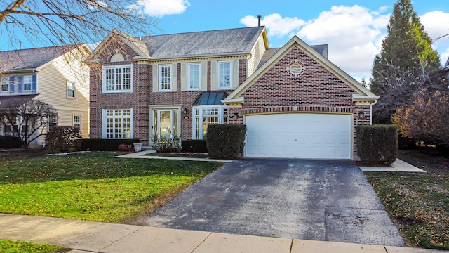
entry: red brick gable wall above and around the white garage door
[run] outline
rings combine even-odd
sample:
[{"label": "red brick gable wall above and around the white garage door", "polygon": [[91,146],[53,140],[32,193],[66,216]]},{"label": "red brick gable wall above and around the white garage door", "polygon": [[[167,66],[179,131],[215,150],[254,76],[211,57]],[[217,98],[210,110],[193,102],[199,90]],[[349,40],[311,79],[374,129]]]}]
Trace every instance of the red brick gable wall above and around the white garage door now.
[{"label": "red brick gable wall above and around the white garage door", "polygon": [[[291,63],[300,63],[305,69],[296,77],[288,68]],[[356,106],[352,95],[357,92],[342,80],[307,56],[300,48],[292,48],[278,63],[257,79],[243,94],[242,108],[231,108],[231,123],[243,124],[243,115],[273,112],[333,112],[354,115],[355,125],[370,124],[370,106]],[[365,117],[358,119],[358,112]]]}]

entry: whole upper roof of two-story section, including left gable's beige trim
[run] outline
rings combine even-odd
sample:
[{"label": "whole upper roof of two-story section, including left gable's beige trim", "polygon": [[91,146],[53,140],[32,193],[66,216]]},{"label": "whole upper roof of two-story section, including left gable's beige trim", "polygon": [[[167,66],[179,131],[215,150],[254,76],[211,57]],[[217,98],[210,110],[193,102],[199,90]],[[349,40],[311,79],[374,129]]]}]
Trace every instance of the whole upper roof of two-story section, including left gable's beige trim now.
[{"label": "whole upper roof of two-story section, including left gable's beige trim", "polygon": [[261,33],[264,35],[265,44],[267,44],[265,27],[186,32],[136,38],[114,29],[95,48],[89,59],[95,60],[114,37],[119,37],[138,53],[138,57],[134,58],[135,60],[247,55]]}]

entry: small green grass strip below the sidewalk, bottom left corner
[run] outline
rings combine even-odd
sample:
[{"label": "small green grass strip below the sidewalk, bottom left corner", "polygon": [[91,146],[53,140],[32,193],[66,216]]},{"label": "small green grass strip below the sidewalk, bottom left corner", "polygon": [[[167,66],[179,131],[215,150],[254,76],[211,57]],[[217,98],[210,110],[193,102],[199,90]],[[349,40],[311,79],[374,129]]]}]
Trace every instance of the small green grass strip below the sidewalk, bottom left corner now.
[{"label": "small green grass strip below the sidewalk, bottom left corner", "polygon": [[16,240],[0,240],[0,252],[4,253],[63,253],[64,247]]}]

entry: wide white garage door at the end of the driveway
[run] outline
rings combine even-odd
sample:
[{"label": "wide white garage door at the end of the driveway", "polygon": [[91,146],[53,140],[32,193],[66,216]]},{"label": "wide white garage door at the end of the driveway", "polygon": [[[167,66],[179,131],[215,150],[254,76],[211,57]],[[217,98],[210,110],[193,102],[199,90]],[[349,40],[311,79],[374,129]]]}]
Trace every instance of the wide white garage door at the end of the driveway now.
[{"label": "wide white garage door at the end of the driveway", "polygon": [[246,157],[351,159],[351,115],[252,115],[246,126]]}]

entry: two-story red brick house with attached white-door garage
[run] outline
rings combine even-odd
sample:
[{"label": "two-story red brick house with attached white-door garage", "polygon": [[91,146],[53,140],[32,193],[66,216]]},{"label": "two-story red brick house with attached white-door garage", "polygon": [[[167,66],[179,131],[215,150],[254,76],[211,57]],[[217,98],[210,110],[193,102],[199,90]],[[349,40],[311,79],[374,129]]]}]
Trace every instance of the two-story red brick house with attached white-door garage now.
[{"label": "two-story red brick house with attached white-door garage", "polygon": [[247,124],[246,156],[351,159],[354,125],[370,124],[377,99],[330,63],[326,45],[294,37],[269,48],[264,27],[137,38],[114,30],[89,60],[91,138],[149,145]]}]

